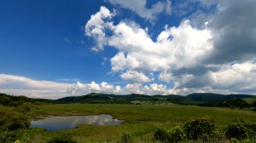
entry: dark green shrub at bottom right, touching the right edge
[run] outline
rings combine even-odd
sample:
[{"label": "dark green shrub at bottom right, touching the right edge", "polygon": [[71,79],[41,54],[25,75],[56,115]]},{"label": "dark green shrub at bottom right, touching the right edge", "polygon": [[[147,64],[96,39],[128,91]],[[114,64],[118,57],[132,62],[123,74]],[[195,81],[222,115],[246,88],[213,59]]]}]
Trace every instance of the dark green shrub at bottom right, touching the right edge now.
[{"label": "dark green shrub at bottom right, touching the right edge", "polygon": [[247,123],[242,119],[236,119],[226,127],[225,136],[228,139],[243,140],[256,136],[256,123]]}]

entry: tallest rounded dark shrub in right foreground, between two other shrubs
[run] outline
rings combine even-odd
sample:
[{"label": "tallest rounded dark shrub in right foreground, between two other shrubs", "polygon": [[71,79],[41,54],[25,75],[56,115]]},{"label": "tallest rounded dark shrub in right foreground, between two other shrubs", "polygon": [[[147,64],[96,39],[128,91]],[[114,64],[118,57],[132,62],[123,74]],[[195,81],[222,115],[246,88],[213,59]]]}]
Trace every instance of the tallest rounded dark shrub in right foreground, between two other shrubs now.
[{"label": "tallest rounded dark shrub in right foreground, between two other shrubs", "polygon": [[213,121],[206,118],[196,118],[185,123],[183,127],[188,139],[192,140],[198,140],[207,134],[212,134],[214,128]]}]

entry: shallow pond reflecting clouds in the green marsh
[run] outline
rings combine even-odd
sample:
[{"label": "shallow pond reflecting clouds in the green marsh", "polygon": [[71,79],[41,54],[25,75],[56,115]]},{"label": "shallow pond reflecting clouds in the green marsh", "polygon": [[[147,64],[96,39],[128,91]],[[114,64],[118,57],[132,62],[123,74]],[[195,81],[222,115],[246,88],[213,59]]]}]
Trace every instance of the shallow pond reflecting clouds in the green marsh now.
[{"label": "shallow pond reflecting clouds in the green marsh", "polygon": [[92,115],[92,116],[51,116],[40,120],[32,120],[30,128],[44,128],[48,131],[59,129],[74,129],[79,125],[118,125],[123,121],[113,119],[111,115]]}]

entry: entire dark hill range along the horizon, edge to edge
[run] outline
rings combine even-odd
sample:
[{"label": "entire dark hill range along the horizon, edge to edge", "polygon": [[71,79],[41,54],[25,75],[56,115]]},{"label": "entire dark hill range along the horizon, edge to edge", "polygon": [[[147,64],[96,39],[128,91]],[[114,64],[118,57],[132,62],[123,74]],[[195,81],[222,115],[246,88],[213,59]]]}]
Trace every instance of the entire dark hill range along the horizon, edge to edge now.
[{"label": "entire dark hill range along the horizon, edge to edge", "polygon": [[[169,95],[145,95],[145,94],[97,94],[91,93],[82,96],[64,97],[58,100],[32,99],[26,96],[12,96],[0,94],[0,104],[20,105],[23,102],[32,103],[86,103],[86,104],[161,104],[172,103],[177,105],[199,105],[199,106],[224,106],[227,101],[233,99],[248,100],[253,104],[255,95],[249,94],[212,94],[195,93],[187,96],[169,94]],[[236,101],[236,100],[235,100]]]}]

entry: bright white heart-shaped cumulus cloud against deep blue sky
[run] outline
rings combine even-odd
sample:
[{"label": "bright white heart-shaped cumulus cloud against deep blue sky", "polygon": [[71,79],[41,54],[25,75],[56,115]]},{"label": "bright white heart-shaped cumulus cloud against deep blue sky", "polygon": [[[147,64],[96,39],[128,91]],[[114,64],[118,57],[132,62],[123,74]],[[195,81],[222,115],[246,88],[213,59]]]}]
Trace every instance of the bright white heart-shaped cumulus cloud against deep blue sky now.
[{"label": "bright white heart-shaped cumulus cloud against deep blue sky", "polygon": [[[149,82],[145,76],[149,72],[162,72],[159,78],[162,80],[164,71],[171,74],[172,70],[196,67],[212,52],[212,32],[196,29],[189,20],[177,27],[166,26],[156,42],[147,30],[134,23],[121,21],[110,28],[102,23],[102,27],[113,31],[106,44],[119,50],[110,60],[112,72],[119,72],[125,80]],[[162,81],[170,82],[170,79]]]}]

